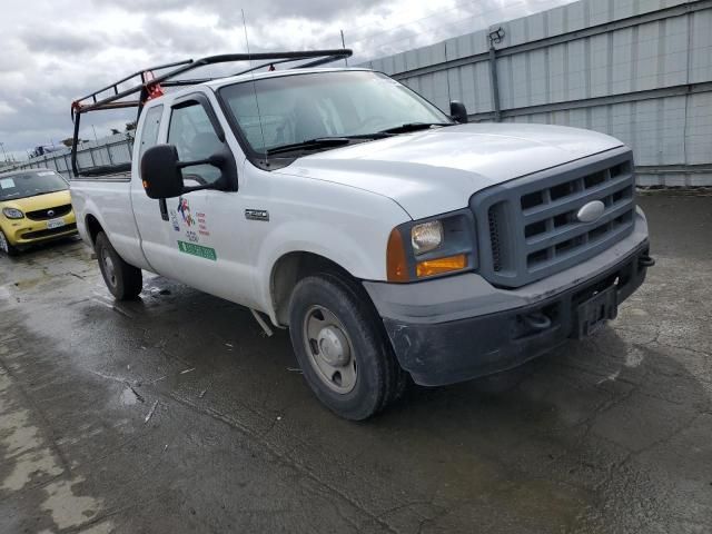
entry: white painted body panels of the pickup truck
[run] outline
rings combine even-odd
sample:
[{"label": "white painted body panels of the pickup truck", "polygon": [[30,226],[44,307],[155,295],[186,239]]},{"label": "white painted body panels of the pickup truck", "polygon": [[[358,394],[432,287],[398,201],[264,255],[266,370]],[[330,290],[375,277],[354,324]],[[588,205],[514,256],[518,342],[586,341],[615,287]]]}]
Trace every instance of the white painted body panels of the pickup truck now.
[{"label": "white painted body panels of the pickup truck", "polygon": [[[386,280],[386,244],[397,225],[465,208],[488,186],[622,146],[612,137],[565,127],[459,125],[326,150],[265,171],[246,158],[214,92],[246,80],[210,82],[150,102],[138,125],[130,181],[73,180],[72,204],[87,243],[86,221],[92,216],[129,264],[265,312],[273,322],[270,281],[284,255],[313,253],[356,278]],[[216,261],[179,251],[178,239],[186,239],[182,221],[176,231],[171,220],[161,219],[139,172],[148,109],[164,105],[158,142],[166,142],[171,100],[197,91],[212,105],[238,167],[238,191],[185,195],[194,217],[205,215],[210,235],[200,236],[200,245],[216,250]],[[169,210],[177,204],[168,199]],[[246,209],[267,210],[269,221],[247,220]]]}]

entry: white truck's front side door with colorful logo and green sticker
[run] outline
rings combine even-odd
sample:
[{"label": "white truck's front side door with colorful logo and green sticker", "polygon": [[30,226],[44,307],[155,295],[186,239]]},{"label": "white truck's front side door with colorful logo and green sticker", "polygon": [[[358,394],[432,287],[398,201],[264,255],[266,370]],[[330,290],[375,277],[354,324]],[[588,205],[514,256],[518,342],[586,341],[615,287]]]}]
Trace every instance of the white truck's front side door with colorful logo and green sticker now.
[{"label": "white truck's front side door with colorful logo and green sticker", "polygon": [[[225,151],[225,129],[204,95],[181,98],[170,108],[166,119],[166,140],[176,146],[180,161],[202,160]],[[233,168],[236,168],[234,162]],[[250,270],[245,247],[247,236],[244,235],[247,221],[240,218],[245,206],[239,191],[224,187],[224,171],[211,165],[185,167],[185,187],[215,185],[219,189],[187,192],[166,200],[151,200],[144,192],[137,221],[146,258],[157,273],[196,289],[250,305],[253,284],[246,276]],[[151,236],[151,239],[145,236]]]}]

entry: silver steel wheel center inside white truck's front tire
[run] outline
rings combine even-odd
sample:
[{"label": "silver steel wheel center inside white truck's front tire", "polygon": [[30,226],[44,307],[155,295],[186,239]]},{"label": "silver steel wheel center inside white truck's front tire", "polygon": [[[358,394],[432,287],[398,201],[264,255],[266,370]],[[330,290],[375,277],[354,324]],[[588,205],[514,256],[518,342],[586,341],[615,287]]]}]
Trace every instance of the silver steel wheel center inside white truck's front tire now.
[{"label": "silver steel wheel center inside white truck's front tire", "polygon": [[304,319],[304,339],[309,363],[322,382],[340,394],[354,389],[354,347],[336,315],[324,306],[312,306]]}]

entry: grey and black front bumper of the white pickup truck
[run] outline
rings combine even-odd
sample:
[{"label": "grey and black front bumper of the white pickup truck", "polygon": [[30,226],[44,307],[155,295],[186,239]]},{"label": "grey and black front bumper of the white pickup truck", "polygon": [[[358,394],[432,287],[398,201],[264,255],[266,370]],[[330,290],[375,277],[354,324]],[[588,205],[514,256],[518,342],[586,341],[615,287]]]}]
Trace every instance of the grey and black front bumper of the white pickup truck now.
[{"label": "grey and black front bumper of the white pickup truck", "polygon": [[[438,386],[511,369],[577,333],[577,305],[615,284],[617,304],[646,274],[647,225],[605,253],[538,283],[504,290],[476,274],[409,285],[364,283],[400,366]],[[583,274],[587,276],[582,276]],[[545,316],[548,325],[533,325]]]}]

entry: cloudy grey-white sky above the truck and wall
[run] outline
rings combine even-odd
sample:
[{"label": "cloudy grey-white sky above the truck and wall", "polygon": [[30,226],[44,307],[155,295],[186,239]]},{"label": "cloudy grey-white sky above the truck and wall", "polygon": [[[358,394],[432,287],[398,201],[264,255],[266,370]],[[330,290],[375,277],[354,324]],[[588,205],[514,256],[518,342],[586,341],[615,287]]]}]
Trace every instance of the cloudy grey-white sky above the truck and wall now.
[{"label": "cloudy grey-white sky above the truck and wall", "polygon": [[[246,51],[240,9],[253,51],[338,48],[343,29],[358,62],[570,1],[2,0],[0,142],[24,158],[71,135],[77,97],[150,65]],[[95,115],[85,138],[92,122],[99,137],[119,126]]]}]

